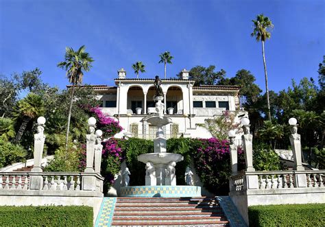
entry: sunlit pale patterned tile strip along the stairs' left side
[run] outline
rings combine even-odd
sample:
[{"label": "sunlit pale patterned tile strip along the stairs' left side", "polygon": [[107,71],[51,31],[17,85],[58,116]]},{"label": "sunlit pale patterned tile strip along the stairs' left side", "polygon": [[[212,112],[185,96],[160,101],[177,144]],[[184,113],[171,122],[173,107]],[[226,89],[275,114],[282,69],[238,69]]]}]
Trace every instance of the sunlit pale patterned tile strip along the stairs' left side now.
[{"label": "sunlit pale patterned tile strip along the stairs' left side", "polygon": [[95,226],[110,226],[112,224],[112,217],[114,215],[116,202],[117,198],[103,198]]}]

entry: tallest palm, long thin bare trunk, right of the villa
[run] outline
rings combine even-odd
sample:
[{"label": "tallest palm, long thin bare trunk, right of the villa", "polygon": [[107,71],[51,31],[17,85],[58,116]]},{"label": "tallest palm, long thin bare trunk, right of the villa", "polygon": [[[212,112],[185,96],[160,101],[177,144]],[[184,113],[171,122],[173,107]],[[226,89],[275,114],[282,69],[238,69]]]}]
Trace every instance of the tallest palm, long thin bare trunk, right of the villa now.
[{"label": "tallest palm, long thin bare trunk, right of the villa", "polygon": [[269,86],[267,85],[267,70],[266,70],[266,62],[265,62],[265,51],[264,51],[264,42],[271,37],[271,33],[268,32],[270,29],[274,27],[272,21],[269,20],[267,16],[263,14],[259,14],[256,16],[256,21],[252,20],[254,23],[254,30],[251,36],[256,36],[256,41],[262,41],[262,55],[263,55],[263,64],[264,64],[264,74],[265,74],[265,88],[266,88],[266,96],[267,96],[267,110],[269,121],[271,121],[271,110],[269,108]]}]

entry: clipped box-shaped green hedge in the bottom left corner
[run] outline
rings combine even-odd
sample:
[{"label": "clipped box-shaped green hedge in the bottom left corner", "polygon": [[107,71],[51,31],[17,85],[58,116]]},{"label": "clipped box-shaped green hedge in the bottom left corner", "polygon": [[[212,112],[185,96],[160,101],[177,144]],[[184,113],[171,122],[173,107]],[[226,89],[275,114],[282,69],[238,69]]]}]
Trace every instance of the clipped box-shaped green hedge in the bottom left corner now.
[{"label": "clipped box-shaped green hedge in the bottom left corner", "polygon": [[0,226],[93,226],[93,208],[0,206]]}]

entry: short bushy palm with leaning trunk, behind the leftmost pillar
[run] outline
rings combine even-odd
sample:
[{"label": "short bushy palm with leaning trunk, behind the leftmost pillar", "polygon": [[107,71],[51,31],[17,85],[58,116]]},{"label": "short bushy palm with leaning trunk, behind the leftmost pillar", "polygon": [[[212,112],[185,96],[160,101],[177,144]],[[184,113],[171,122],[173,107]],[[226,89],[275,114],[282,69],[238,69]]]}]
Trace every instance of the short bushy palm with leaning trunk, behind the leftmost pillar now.
[{"label": "short bushy palm with leaning trunk, behind the leftmost pillar", "polygon": [[34,93],[29,93],[24,99],[18,101],[17,106],[14,108],[14,120],[16,123],[19,122],[19,130],[16,133],[15,142],[19,143],[21,141],[21,136],[23,136],[27,123],[45,112],[44,102],[40,95]]}]

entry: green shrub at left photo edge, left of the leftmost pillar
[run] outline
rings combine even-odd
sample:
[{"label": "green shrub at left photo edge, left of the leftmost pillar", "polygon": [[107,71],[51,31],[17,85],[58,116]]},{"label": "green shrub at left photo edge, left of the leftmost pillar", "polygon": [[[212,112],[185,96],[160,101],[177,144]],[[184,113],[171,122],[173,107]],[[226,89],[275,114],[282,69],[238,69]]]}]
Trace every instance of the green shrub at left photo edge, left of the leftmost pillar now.
[{"label": "green shrub at left photo edge, left of the leftmost pillar", "polygon": [[26,155],[21,145],[14,145],[0,137],[0,168],[23,161]]}]

